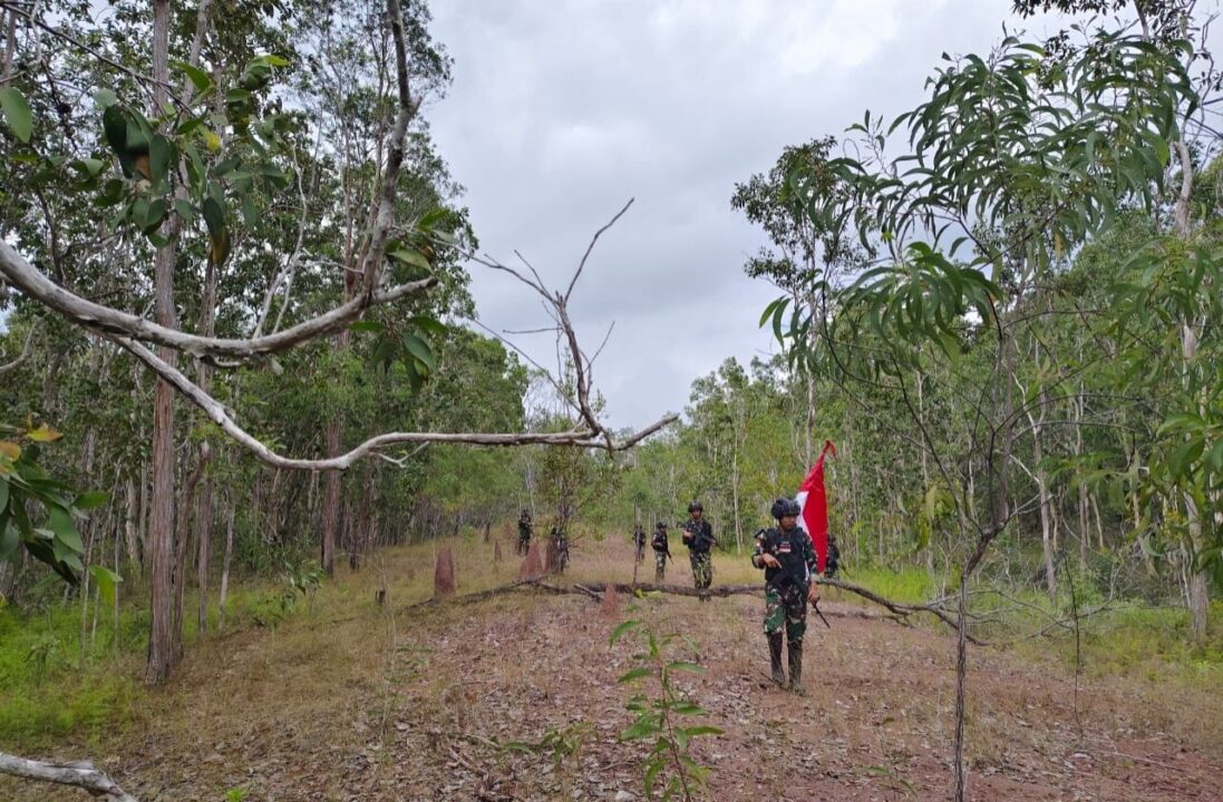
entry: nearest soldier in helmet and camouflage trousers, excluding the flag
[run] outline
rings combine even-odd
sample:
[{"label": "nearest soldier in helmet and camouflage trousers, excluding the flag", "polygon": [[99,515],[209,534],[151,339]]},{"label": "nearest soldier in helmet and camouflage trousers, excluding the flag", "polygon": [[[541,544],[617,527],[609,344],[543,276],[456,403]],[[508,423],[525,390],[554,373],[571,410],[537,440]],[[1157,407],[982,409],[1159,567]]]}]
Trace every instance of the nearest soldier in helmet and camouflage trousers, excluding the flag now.
[{"label": "nearest soldier in helmet and camouflage trousers, excluding the flag", "polygon": [[802,693],[802,636],[807,631],[807,603],[819,600],[812,581],[816,549],[811,537],[799,526],[799,502],[778,499],[773,502],[778,526],[756,534],[752,565],[764,568],[764,635],[768,636],[773,682],[786,687],[781,670],[781,637],[785,633],[790,658],[789,688]]}]

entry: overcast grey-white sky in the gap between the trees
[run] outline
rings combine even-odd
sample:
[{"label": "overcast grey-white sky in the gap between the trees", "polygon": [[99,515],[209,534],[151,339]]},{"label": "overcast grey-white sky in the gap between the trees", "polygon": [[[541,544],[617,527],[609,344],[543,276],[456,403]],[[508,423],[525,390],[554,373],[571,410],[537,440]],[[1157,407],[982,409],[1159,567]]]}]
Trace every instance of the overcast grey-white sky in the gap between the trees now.
[{"label": "overcast grey-white sky in the gap between the trees", "polygon": [[[693,379],[775,350],[777,295],[744,275],[763,235],[730,208],[736,181],[786,144],[840,134],[923,98],[943,51],[985,53],[1010,0],[437,0],[454,87],[429,109],[484,251],[517,249],[556,286],[599,241],[572,302],[616,427],[680,412]],[[472,268],[479,318],[538,328],[536,298]],[[552,339],[517,336],[544,364]]]}]

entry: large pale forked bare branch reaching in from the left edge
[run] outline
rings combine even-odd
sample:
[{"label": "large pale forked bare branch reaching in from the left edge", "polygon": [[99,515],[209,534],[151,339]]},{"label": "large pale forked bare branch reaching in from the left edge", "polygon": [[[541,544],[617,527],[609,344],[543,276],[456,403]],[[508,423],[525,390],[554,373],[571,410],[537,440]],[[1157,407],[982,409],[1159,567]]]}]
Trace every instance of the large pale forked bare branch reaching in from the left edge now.
[{"label": "large pale forked bare branch reaching in from the left edge", "polygon": [[[207,7],[207,2],[202,7]],[[272,298],[278,286],[292,281],[295,259],[300,253],[295,247],[289,263],[280,270],[273,281],[272,289],[264,300],[259,313],[254,336],[247,339],[223,339],[213,336],[199,336],[180,331],[172,325],[161,325],[142,315],[136,315],[113,307],[108,307],[56,284],[51,278],[43,274],[26,257],[7,242],[0,240],[0,278],[22,291],[28,297],[38,301],[43,306],[55,311],[64,318],[94,331],[121,346],[144,363],[153,373],[172,385],[180,394],[186,396],[192,403],[199,407],[216,425],[225,432],[235,443],[253,454],[262,462],[286,469],[305,471],[344,471],[351,467],[357,460],[364,456],[377,455],[394,465],[402,465],[405,458],[383,454],[386,449],[405,444],[428,443],[461,443],[484,446],[521,446],[521,445],[566,445],[576,447],[598,447],[608,451],[629,449],[642,439],[658,432],[665,425],[675,422],[678,416],[670,414],[654,424],[646,427],[641,432],[624,439],[616,439],[599,421],[589,403],[589,361],[585,358],[577,344],[577,335],[574,331],[572,322],[567,313],[567,301],[572,292],[582,269],[586,265],[591,252],[598,242],[599,236],[620,219],[632,204],[630,200],[625,207],[603,227],[600,227],[591,240],[586,254],[582,257],[565,295],[552,292],[543,284],[539,274],[526,259],[523,264],[531,270],[533,280],[517,270],[506,268],[490,259],[479,259],[482,264],[490,268],[505,270],[520,281],[532,287],[545,302],[545,309],[555,320],[559,333],[564,336],[574,369],[577,378],[577,397],[571,400],[578,412],[578,422],[565,432],[544,433],[481,433],[481,432],[391,432],[372,436],[357,445],[346,454],[323,458],[294,458],[276,454],[258,438],[249,434],[237,424],[235,414],[225,405],[213,397],[199,384],[192,381],[179,370],[172,361],[154,353],[149,346],[161,346],[172,351],[185,352],[208,364],[235,366],[263,355],[286,351],[297,345],[317,340],[336,331],[340,331],[350,323],[360,319],[372,307],[394,303],[411,295],[424,292],[437,284],[435,278],[427,278],[410,284],[383,287],[383,263],[385,260],[386,247],[391,234],[396,230],[394,221],[394,207],[397,196],[399,175],[405,159],[406,139],[408,126],[416,116],[421,105],[421,98],[412,95],[408,83],[408,45],[405,34],[404,15],[400,0],[386,0],[386,21],[390,28],[390,39],[395,50],[397,111],[391,132],[388,137],[385,163],[380,171],[380,186],[371,204],[368,213],[364,245],[358,258],[360,268],[353,269],[361,278],[361,286],[353,296],[311,320],[300,323],[284,331],[262,334],[272,306]],[[203,20],[197,26],[196,44],[193,53],[198,49],[198,42],[203,32]],[[187,95],[190,99],[190,94]],[[298,182],[298,194],[302,187]],[[303,198],[305,202],[305,198]],[[521,258],[521,256],[520,256]],[[285,289],[287,303],[287,286]],[[281,307],[281,312],[284,306]],[[278,326],[279,328],[279,324]],[[602,346],[600,346],[602,348]],[[521,352],[521,351],[520,351]],[[548,373],[548,372],[544,372]],[[550,374],[549,374],[550,377]],[[552,377],[550,377],[552,378]],[[554,384],[559,383],[553,378]],[[564,394],[563,394],[564,395]]]}]

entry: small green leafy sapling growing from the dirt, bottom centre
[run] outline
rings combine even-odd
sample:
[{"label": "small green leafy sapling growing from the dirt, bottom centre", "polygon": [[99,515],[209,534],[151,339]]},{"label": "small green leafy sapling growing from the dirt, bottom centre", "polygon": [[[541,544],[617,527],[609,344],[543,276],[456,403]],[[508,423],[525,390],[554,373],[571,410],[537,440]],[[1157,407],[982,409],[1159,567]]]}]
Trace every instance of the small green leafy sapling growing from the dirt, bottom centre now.
[{"label": "small green leafy sapling growing from the dirt, bottom centre", "polygon": [[[637,632],[643,647],[634,654],[637,668],[620,676],[619,682],[632,683],[651,679],[657,681],[657,696],[635,694],[625,705],[636,715],[620,734],[624,741],[652,741],[645,758],[645,790],[649,800],[685,800],[690,802],[707,787],[709,770],[691,754],[695,738],[720,735],[722,729],[708,724],[686,724],[689,716],[707,715],[695,702],[684,698],[675,686],[676,672],[701,672],[704,669],[692,660],[673,657],[675,647],[684,643],[696,654],[696,646],[679,633],[658,635],[643,621],[624,621],[612,631],[614,646],[630,632]],[[697,659],[700,658],[696,654]],[[656,797],[656,792],[658,796]]]}]

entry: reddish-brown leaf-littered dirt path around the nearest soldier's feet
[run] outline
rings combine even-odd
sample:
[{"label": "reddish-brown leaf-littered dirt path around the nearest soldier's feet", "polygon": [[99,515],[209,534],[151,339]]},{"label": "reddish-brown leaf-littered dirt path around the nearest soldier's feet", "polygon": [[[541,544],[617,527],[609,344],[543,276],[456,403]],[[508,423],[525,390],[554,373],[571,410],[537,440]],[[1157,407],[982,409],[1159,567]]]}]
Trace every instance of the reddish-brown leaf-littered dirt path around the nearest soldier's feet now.
[{"label": "reddish-brown leaf-littered dirt path around the nearest soldier's feet", "polygon": [[[680,682],[725,735],[696,753],[713,769],[714,800],[948,798],[951,641],[882,621],[834,617],[808,643],[807,697],[767,687],[758,603],[711,611],[667,599],[652,615],[689,622],[707,672]],[[835,605],[832,605],[835,610]],[[396,721],[396,780],[408,800],[614,800],[640,792],[642,747],[619,743],[630,721],[615,679],[630,649],[609,650],[614,621],[581,599],[543,599],[472,615],[466,636],[442,636],[429,671],[446,680],[405,691]],[[704,619],[704,620],[702,620]],[[1223,776],[1172,736],[1140,727],[1107,691],[997,655],[978,657],[969,726],[976,800],[1217,800]],[[583,729],[587,727],[588,729]],[[1141,725],[1140,725],[1141,726]],[[505,740],[549,730],[585,734],[575,757],[510,757]],[[1139,737],[1136,731],[1146,732]],[[547,749],[544,749],[547,752]],[[1131,756],[1131,757],[1125,757]],[[1135,757],[1136,756],[1136,757]],[[358,776],[353,776],[355,782]],[[400,786],[404,787],[404,786]]]}]

